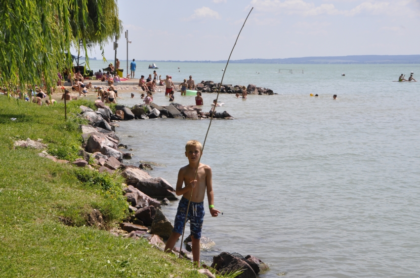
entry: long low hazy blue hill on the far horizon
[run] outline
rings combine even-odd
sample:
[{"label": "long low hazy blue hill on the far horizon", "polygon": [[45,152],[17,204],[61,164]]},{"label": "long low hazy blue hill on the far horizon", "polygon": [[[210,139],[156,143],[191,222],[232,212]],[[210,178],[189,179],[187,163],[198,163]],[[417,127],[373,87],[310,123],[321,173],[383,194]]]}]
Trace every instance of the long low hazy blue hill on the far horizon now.
[{"label": "long low hazy blue hill on the far horizon", "polygon": [[[144,62],[189,62],[189,63],[226,63],[220,61],[149,61]],[[352,55],[330,57],[302,57],[285,59],[243,59],[229,63],[244,64],[420,64],[420,55]]]}]

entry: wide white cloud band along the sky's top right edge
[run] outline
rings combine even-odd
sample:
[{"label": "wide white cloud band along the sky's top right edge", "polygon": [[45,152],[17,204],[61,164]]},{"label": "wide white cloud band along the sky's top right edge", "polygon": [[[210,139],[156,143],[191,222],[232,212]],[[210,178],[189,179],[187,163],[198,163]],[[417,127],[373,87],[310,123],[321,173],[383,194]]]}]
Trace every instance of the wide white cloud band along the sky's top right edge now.
[{"label": "wide white cloud band along the sky's top right edge", "polygon": [[417,5],[416,0],[392,2],[367,0],[350,10],[338,10],[334,4],[321,4],[316,6],[314,3],[305,2],[304,0],[252,0],[250,4],[250,6],[254,6],[259,11],[301,16],[316,16],[321,14],[355,16],[363,13],[372,15],[414,16],[415,11],[413,11],[411,6]]}]

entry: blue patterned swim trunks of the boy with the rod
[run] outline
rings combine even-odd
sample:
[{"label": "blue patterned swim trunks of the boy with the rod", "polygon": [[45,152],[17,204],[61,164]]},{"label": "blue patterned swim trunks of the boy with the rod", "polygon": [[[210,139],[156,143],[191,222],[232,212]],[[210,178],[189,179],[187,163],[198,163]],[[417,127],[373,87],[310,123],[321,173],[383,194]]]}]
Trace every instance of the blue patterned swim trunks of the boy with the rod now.
[{"label": "blue patterned swim trunks of the boy with the rod", "polygon": [[[203,204],[204,202],[201,202],[201,203],[191,202],[190,209],[188,209],[187,219],[190,220],[191,235],[197,240],[201,239],[201,229],[203,228],[203,220],[204,220],[204,214],[205,214]],[[188,207],[188,199],[182,197],[181,201],[179,201],[179,204],[178,204],[178,210],[176,211],[175,223],[173,224],[172,232],[182,234],[187,207]]]}]

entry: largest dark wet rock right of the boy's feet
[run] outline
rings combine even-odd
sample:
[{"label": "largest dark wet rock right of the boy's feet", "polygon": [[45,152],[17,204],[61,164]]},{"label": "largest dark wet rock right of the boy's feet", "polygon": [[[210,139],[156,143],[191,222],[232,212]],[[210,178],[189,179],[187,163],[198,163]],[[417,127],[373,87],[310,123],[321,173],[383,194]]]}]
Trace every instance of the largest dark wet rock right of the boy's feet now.
[{"label": "largest dark wet rock right of the boy's feet", "polygon": [[221,252],[219,255],[214,256],[211,268],[214,268],[220,274],[243,270],[237,278],[256,278],[255,272],[246,260],[237,258],[227,252]]}]

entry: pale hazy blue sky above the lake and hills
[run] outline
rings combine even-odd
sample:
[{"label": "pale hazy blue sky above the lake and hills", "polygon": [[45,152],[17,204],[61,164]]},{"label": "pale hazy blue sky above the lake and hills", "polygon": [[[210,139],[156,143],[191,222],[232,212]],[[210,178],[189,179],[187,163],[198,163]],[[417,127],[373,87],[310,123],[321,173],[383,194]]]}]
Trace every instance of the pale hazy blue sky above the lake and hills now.
[{"label": "pale hazy blue sky above the lake and hills", "polygon": [[[420,54],[420,0],[119,0],[128,59]],[[100,57],[99,47],[90,57]],[[105,57],[114,59],[113,44]],[[117,57],[126,60],[124,33]]]}]

